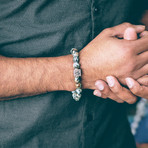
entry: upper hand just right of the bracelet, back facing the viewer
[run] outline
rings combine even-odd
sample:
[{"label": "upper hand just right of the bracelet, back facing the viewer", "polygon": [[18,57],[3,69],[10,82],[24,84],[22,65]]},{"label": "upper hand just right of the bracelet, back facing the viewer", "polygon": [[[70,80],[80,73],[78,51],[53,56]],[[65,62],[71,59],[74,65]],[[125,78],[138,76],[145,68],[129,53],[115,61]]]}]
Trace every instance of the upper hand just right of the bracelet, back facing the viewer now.
[{"label": "upper hand just right of the bracelet, back facing the viewer", "polygon": [[137,79],[148,73],[148,38],[135,41],[116,38],[123,36],[128,27],[135,28],[137,33],[145,29],[128,23],[105,29],[80,52],[84,88],[95,89],[95,81],[105,80],[108,75],[125,84],[127,76]]}]

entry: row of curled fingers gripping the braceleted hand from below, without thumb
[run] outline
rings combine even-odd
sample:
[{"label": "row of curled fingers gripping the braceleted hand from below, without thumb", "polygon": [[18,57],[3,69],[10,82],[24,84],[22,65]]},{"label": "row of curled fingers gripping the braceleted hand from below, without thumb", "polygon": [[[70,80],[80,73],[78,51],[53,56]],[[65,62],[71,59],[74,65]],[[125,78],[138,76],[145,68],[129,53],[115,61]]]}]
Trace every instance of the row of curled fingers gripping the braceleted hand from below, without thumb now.
[{"label": "row of curled fingers gripping the braceleted hand from below, without thumb", "polygon": [[[148,76],[145,76],[145,78],[148,79]],[[136,97],[134,95],[148,99],[148,86],[140,85],[140,83],[133,78],[128,77],[125,80],[132,93],[127,88],[123,87],[115,77],[108,76],[108,84],[103,80],[96,81],[96,87],[98,89],[94,91],[94,95],[104,99],[110,98],[118,103],[123,103],[125,101],[129,104],[136,102]]]}]

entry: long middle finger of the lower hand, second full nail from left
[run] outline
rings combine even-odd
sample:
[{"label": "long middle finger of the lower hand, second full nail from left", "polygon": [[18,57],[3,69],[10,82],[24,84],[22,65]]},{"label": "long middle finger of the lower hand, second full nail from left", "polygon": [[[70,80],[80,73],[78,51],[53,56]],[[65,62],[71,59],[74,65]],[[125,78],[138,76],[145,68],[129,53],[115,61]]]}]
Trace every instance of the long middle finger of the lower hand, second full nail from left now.
[{"label": "long middle finger of the lower hand, second full nail from left", "polygon": [[136,102],[137,97],[134,96],[128,89],[122,87],[116,78],[113,76],[108,76],[106,77],[106,80],[112,92],[115,93],[120,99],[129,104]]}]

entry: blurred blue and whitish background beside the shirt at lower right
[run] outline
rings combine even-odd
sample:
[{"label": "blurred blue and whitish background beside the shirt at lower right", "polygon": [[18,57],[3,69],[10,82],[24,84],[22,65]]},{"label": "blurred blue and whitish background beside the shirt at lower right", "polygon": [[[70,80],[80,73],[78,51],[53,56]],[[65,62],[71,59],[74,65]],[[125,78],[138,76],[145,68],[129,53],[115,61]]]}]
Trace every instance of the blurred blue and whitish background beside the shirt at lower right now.
[{"label": "blurred blue and whitish background beside the shirt at lower right", "polygon": [[127,104],[127,112],[137,148],[148,148],[148,100],[139,98],[135,104]]}]

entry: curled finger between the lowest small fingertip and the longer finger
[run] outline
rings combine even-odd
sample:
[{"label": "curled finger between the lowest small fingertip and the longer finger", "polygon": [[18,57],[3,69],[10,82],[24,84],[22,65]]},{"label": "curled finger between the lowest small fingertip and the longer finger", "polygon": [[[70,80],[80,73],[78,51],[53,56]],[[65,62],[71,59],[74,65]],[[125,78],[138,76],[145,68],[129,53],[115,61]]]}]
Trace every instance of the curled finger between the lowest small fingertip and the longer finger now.
[{"label": "curled finger between the lowest small fingertip and the longer finger", "polygon": [[118,98],[109,88],[106,82],[103,80],[98,80],[95,83],[96,88],[101,92],[103,98],[110,98],[118,103],[123,103],[124,101]]}]

